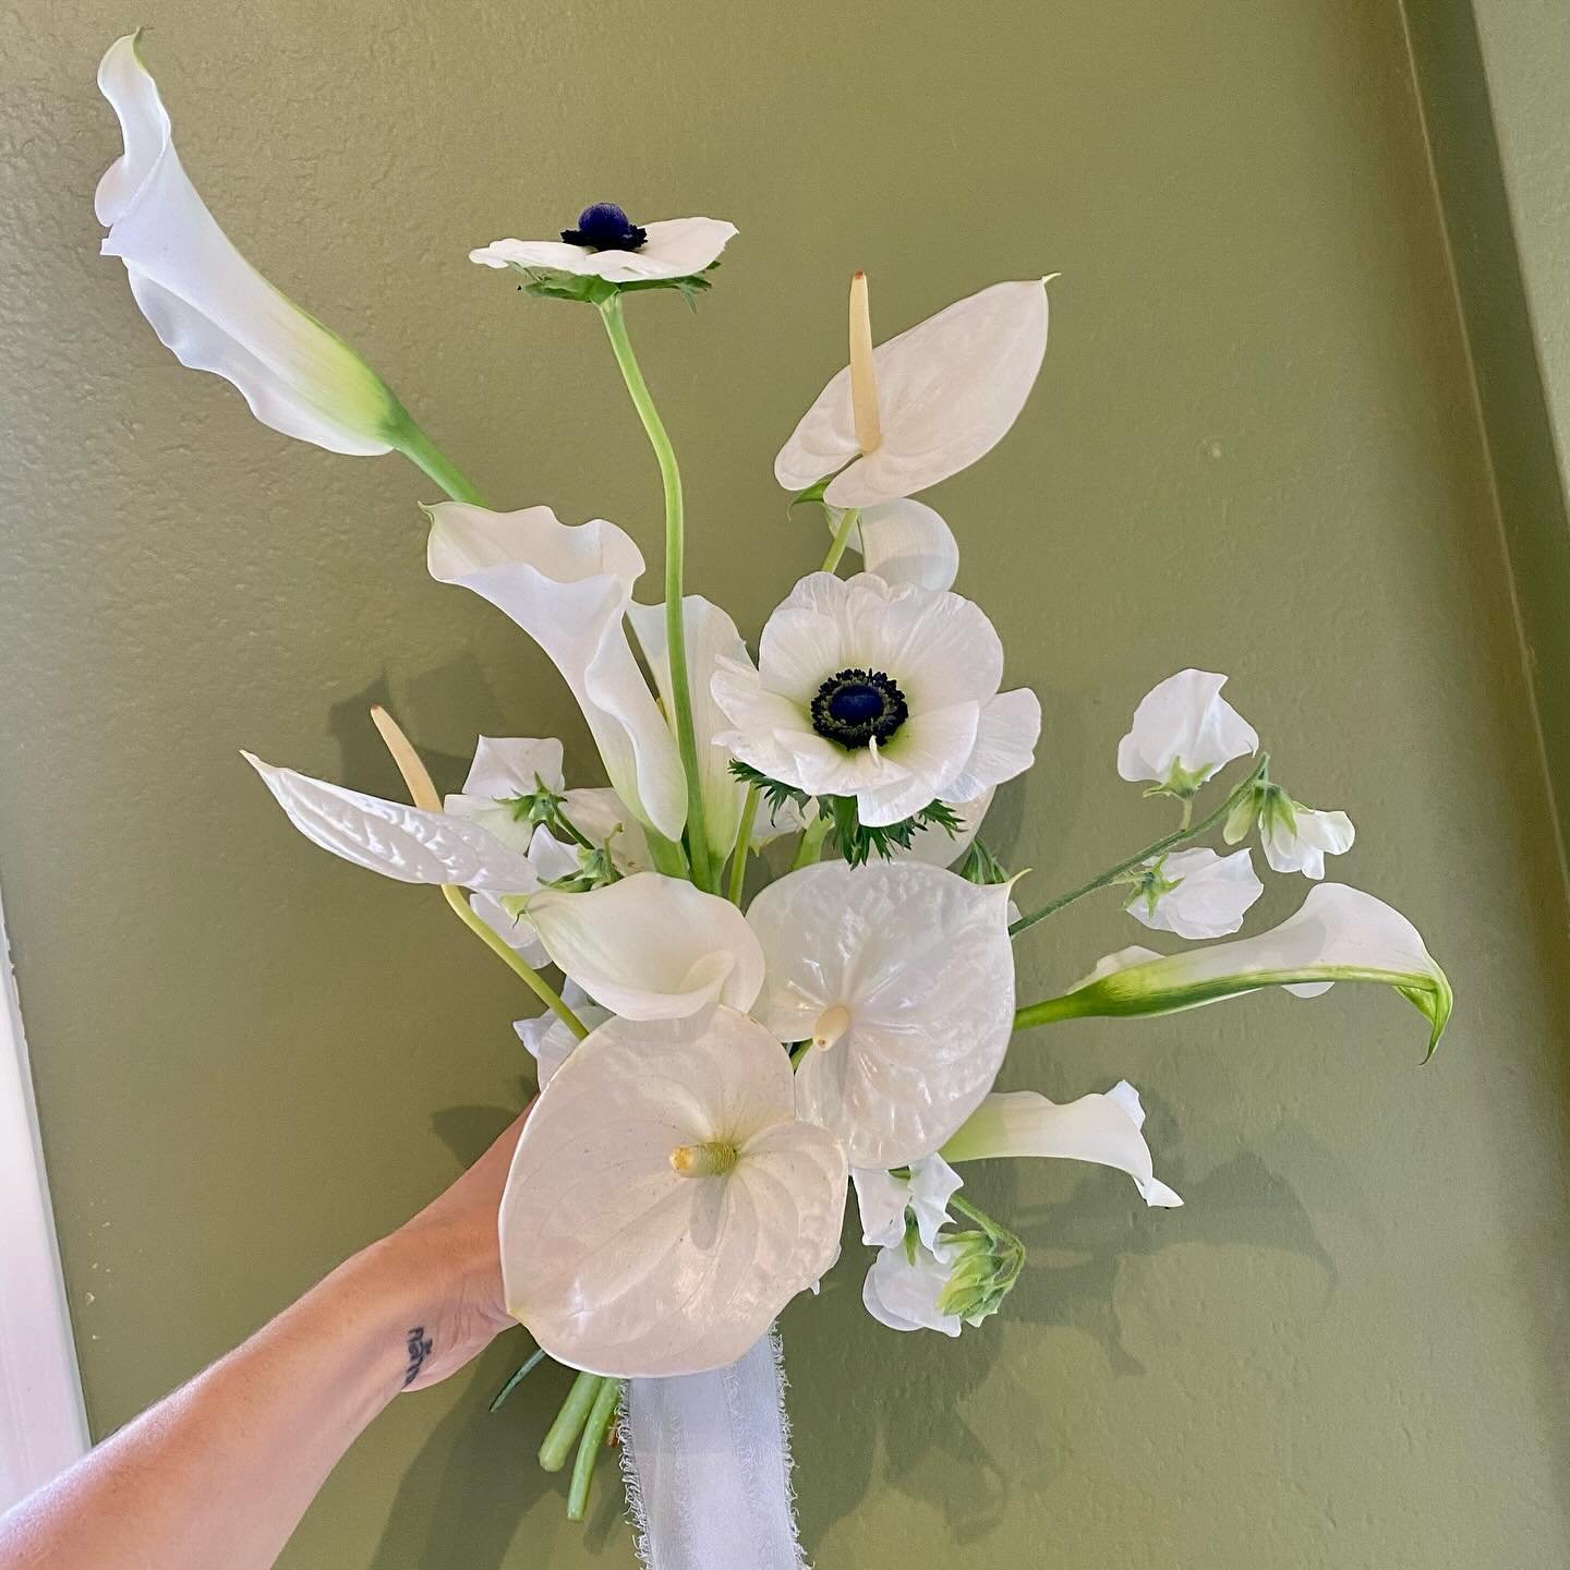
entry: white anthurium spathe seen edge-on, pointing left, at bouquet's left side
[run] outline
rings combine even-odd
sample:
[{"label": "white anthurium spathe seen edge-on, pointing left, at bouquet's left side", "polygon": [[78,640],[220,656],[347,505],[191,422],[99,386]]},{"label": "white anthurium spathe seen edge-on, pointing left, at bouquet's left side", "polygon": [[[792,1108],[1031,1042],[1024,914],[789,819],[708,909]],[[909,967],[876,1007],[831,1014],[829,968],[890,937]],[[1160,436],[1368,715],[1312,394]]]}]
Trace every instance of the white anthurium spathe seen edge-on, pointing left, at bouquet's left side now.
[{"label": "white anthurium spathe seen edge-on, pointing left, at bouquet's left side", "polygon": [[539,887],[529,859],[493,834],[446,812],[383,801],[240,754],[289,821],[323,851],[399,882],[458,884],[499,893]]}]

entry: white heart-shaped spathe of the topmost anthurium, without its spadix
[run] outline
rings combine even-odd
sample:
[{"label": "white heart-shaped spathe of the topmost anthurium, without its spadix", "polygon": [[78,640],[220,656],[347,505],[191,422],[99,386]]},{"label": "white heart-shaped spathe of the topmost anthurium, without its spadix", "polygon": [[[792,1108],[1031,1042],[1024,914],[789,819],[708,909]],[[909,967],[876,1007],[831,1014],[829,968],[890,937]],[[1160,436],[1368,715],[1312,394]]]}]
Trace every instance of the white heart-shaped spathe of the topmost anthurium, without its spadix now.
[{"label": "white heart-shaped spathe of the topmost anthurium, without its spadix", "polygon": [[1046,279],[1002,283],[958,300],[871,352],[879,440],[857,440],[846,366],[818,394],[774,460],[788,491],[835,477],[831,507],[912,496],[969,468],[1003,440],[1047,349]]}]

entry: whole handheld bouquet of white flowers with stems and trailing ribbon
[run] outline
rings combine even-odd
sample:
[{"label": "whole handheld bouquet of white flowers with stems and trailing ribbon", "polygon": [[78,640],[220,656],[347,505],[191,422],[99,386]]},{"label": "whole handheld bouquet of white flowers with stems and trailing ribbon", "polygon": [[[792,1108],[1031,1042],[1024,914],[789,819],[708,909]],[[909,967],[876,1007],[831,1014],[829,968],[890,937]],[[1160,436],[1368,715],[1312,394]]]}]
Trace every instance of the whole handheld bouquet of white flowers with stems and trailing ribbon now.
[{"label": "whole handheld bouquet of white flowers with stems and trailing ribbon", "polygon": [[[250,758],[312,842],[438,885],[545,1006],[517,1025],[540,1097],[499,1232],[509,1308],[539,1347],[509,1389],[545,1356],[581,1371],[542,1451],[548,1468],[576,1454],[570,1515],[617,1433],[648,1564],[801,1562],[772,1325],[835,1267],[849,1188],[868,1311],[948,1336],[999,1313],[1024,1267],[1005,1221],[962,1196],[966,1163],[1099,1162],[1146,1204],[1182,1203],[1154,1176],[1130,1085],[1068,1105],[992,1090],[1016,1033],[1377,981],[1426,1016],[1432,1052],[1444,973],[1405,917],[1320,881],[1352,823],[1276,783],[1221,675],[1162,681],[1118,746],[1119,776],[1174,805],[1154,843],[1020,914],[1017,878],[980,838],[997,788],[1031,766],[1041,708],[1000,691],[997,633],[953,592],[955,535],[914,496],[1019,416],[1049,279],[992,284],[874,344],[856,275],[849,363],[774,465],[827,551],[754,661],[724,609],[683,593],[681,476],[628,336],[634,295],[711,287],[732,225],[637,225],[598,203],[559,239],[471,253],[604,328],[664,485],[664,597],[639,603],[628,534],[491,510],[386,383],[245,262],[181,168],[135,38],[99,80],[126,144],[97,192],[104,251],[159,336],[276,430],[418,463],[449,498],[427,509],[432,576],[550,655],[604,765],[608,785],[570,785],[559,741],[482,736],[443,799],[380,710],[408,802]],[[860,570],[842,578],[849,554]],[[1173,955],[1126,948],[1060,997],[1016,997],[1014,944],[1099,890],[1181,939],[1237,933],[1262,892],[1254,835],[1272,871],[1314,881],[1289,920]],[[749,901],[769,840],[788,842],[769,860],[790,870]]]}]

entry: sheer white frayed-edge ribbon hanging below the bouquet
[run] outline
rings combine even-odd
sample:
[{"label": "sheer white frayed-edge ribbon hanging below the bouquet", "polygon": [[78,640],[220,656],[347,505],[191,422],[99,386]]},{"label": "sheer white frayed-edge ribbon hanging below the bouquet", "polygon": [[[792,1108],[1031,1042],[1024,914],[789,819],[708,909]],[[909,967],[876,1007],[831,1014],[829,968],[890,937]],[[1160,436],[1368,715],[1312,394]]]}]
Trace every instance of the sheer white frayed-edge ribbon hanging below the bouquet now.
[{"label": "sheer white frayed-edge ribbon hanging below the bouquet", "polygon": [[777,1331],[711,1374],[630,1380],[622,1418],[647,1570],[807,1570]]}]

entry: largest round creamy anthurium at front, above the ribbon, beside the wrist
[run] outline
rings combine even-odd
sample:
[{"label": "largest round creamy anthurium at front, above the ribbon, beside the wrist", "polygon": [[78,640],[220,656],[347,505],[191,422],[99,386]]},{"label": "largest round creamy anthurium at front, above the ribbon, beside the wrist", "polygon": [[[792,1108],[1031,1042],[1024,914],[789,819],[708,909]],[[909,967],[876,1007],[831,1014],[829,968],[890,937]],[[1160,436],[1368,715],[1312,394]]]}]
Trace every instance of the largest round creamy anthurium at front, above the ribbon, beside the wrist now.
[{"label": "largest round creamy anthurium at front, above the ribbon, beside the wrist", "polygon": [[507,1309],[570,1367],[722,1367],[834,1262],[845,1179],[838,1141],[798,1121],[790,1061],[761,1025],[730,1008],[608,1020],[518,1140]]}]

